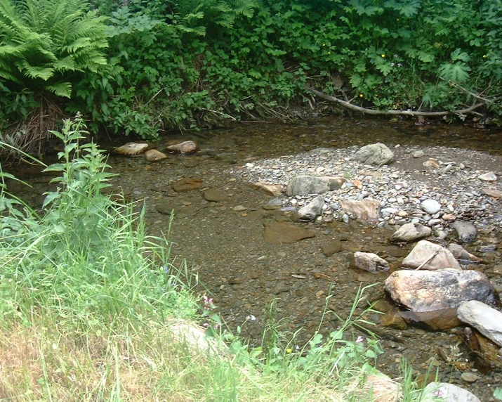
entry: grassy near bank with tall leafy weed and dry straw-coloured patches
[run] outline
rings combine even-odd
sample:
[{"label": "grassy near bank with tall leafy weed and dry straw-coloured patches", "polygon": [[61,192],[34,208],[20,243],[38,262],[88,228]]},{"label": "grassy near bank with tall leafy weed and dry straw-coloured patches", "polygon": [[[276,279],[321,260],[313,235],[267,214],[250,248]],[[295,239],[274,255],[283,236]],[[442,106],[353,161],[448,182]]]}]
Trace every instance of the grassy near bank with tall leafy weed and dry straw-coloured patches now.
[{"label": "grassy near bank with tall leafy weed and dry straw-coloured patches", "polygon": [[374,401],[378,387],[418,398],[409,370],[400,391],[369,381],[378,343],[350,335],[360,316],[298,349],[273,322],[255,349],[225,330],[169,242],[145,233],[142,205],[103,195],[110,174],[94,144],[79,144],[84,129],[77,116],[55,134],[65,150],[46,168],[58,190],[43,214],[1,173],[2,400]]}]

